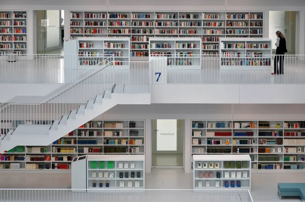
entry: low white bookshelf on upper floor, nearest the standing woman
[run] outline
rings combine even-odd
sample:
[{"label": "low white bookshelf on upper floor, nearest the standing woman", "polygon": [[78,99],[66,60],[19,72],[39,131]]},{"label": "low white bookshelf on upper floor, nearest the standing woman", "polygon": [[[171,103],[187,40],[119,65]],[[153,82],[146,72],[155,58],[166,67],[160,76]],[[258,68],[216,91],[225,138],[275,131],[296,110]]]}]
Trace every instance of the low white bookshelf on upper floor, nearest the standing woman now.
[{"label": "low white bookshelf on upper floor, nearest the standing woman", "polygon": [[270,70],[269,38],[219,38],[221,70]]}]

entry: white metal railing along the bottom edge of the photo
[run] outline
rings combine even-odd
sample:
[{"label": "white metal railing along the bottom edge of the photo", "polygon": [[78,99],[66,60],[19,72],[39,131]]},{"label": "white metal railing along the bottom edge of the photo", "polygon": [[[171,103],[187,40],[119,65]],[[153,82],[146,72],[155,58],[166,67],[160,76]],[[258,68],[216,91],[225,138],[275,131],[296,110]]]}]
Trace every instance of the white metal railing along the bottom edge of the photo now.
[{"label": "white metal railing along the bottom edge of the photo", "polygon": [[217,190],[210,189],[200,192],[185,189],[146,189],[131,191],[130,189],[73,192],[86,190],[72,189],[1,189],[0,202],[86,202],[86,201],[125,201],[125,202],[253,202],[249,190]]}]

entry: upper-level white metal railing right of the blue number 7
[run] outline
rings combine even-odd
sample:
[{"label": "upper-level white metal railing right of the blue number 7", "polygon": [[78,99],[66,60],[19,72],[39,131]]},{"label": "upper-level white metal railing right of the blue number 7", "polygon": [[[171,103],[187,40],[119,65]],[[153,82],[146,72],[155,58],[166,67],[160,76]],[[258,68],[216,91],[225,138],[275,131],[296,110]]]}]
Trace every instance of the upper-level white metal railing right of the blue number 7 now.
[{"label": "upper-level white metal railing right of the blue number 7", "polygon": [[[272,75],[277,57],[276,55],[228,55],[221,58],[219,55],[167,55],[166,83],[305,84],[304,55],[285,55],[284,74]],[[152,59],[154,57],[150,57],[150,61],[153,61]],[[153,65],[162,66],[160,62],[160,60],[151,62],[150,68],[154,68]],[[280,68],[280,63],[277,68]],[[157,76],[154,79],[157,79]]]}]

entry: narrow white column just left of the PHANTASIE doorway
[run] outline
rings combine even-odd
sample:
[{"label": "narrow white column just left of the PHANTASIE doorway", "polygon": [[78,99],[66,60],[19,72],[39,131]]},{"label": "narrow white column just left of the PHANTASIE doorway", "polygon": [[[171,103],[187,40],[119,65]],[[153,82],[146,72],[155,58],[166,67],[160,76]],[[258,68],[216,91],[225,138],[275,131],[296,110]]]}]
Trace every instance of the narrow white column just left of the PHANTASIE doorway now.
[{"label": "narrow white column just left of the PHANTASIE doorway", "polygon": [[151,119],[145,120],[145,173],[151,172]]}]

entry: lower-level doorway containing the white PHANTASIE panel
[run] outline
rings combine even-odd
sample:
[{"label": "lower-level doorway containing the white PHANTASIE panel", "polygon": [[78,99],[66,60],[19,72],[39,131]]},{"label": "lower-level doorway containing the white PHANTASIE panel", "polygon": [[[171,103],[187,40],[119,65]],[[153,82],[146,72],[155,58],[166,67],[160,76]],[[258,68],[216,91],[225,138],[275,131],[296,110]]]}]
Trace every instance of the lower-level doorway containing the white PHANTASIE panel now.
[{"label": "lower-level doorway containing the white PHANTASIE panel", "polygon": [[184,166],[184,120],[152,120],[152,162],[153,167]]}]

